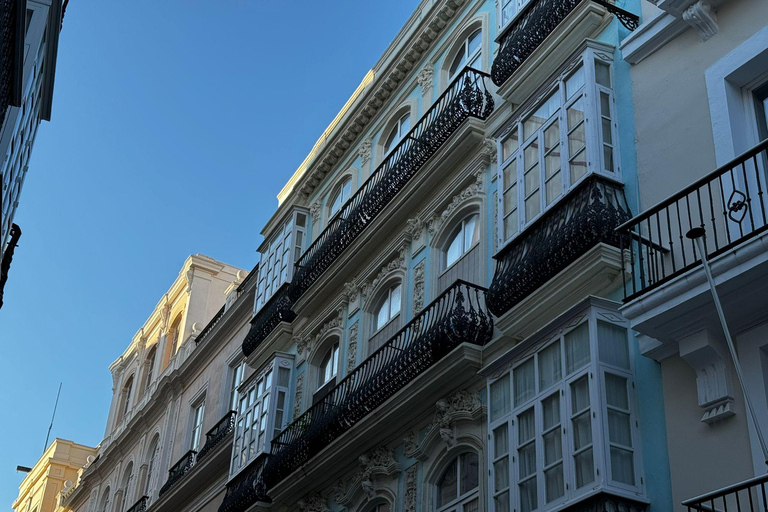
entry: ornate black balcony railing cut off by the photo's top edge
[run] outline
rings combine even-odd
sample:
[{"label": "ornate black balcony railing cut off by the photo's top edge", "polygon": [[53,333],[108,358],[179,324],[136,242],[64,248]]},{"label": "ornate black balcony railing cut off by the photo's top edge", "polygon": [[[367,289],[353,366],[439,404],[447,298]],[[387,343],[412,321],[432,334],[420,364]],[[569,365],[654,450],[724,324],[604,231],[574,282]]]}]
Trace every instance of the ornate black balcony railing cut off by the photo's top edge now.
[{"label": "ornate black balcony railing cut off by the photo's top edge", "polygon": [[491,67],[493,83],[501,86],[582,2],[594,2],[614,14],[629,30],[639,18],[606,0],[529,0],[497,39],[501,48]]}]

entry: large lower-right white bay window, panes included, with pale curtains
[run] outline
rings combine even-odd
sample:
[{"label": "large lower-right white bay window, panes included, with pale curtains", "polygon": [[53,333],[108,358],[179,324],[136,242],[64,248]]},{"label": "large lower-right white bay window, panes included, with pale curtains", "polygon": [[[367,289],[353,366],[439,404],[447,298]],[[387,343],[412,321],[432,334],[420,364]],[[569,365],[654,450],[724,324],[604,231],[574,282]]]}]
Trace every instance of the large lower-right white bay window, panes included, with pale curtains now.
[{"label": "large lower-right white bay window, panes included, with pale curtains", "polygon": [[596,305],[513,349],[488,383],[495,512],[562,508],[600,490],[644,500],[628,324]]}]

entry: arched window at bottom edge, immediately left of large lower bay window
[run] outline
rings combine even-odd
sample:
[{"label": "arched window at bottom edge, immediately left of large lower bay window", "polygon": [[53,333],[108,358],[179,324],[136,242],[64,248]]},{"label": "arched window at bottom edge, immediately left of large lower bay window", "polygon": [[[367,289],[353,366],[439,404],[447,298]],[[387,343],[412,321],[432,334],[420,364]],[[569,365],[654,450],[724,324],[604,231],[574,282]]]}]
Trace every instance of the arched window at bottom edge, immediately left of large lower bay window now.
[{"label": "arched window at bottom edge, immediately left of large lower bay window", "polygon": [[448,464],[435,486],[437,512],[480,510],[479,469],[475,452],[462,453]]}]

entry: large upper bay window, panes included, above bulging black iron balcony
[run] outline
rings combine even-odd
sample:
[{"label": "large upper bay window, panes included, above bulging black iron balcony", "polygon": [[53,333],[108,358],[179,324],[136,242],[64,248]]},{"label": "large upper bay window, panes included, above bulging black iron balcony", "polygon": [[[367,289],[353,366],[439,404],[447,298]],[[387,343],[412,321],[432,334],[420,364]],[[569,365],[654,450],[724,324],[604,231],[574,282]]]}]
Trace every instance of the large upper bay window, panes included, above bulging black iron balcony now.
[{"label": "large upper bay window, panes included, above bulging black iron balcony", "polygon": [[499,141],[501,243],[589,172],[616,177],[614,112],[610,65],[590,49],[544,100],[509,127]]}]

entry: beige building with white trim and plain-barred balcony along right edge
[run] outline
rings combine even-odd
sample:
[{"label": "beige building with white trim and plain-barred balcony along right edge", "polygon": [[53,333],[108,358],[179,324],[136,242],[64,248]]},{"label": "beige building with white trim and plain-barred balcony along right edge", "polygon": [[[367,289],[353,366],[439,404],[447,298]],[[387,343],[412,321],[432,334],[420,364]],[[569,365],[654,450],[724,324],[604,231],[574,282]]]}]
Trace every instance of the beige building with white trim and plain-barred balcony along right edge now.
[{"label": "beige building with white trim and plain-barred balcony along right edge", "polygon": [[744,387],[765,430],[768,5],[659,0],[643,9],[621,45],[631,63],[640,184],[638,215],[621,230],[635,275],[622,313],[641,352],[661,364],[674,503],[705,495],[691,506],[735,508],[738,497],[742,510],[757,510],[768,454],[702,251],[686,235],[704,230]]}]

